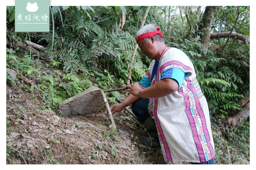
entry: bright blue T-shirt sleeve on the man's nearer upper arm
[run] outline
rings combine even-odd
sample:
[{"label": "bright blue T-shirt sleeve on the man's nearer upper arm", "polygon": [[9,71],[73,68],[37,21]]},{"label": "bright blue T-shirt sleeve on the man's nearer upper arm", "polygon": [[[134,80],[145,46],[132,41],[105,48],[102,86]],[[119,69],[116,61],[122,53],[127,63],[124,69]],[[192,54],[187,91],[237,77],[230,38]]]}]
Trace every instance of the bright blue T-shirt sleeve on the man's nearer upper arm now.
[{"label": "bright blue T-shirt sleeve on the man's nearer upper arm", "polygon": [[179,89],[180,89],[180,86],[182,85],[186,76],[187,76],[187,73],[184,73],[181,69],[179,69],[179,68],[170,68],[168,70],[164,70],[164,72],[161,75],[161,79],[163,79],[163,78],[175,79],[178,82]]}]

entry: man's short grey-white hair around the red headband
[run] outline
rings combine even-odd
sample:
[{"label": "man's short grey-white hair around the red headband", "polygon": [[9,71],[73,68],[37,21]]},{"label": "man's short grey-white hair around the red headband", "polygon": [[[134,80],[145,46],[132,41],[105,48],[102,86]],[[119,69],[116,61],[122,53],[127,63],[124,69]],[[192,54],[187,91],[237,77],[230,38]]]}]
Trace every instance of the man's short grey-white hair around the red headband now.
[{"label": "man's short grey-white hair around the red headband", "polygon": [[[137,39],[141,34],[156,31],[156,28],[159,28],[159,26],[156,25],[156,24],[148,24],[148,25],[143,26],[142,28],[140,28],[137,31],[137,33],[135,35],[135,39]],[[154,35],[154,37],[157,41],[163,41],[164,42],[164,38],[162,36],[160,36],[159,34]],[[144,38],[143,40],[145,42],[147,42],[148,38]]]}]

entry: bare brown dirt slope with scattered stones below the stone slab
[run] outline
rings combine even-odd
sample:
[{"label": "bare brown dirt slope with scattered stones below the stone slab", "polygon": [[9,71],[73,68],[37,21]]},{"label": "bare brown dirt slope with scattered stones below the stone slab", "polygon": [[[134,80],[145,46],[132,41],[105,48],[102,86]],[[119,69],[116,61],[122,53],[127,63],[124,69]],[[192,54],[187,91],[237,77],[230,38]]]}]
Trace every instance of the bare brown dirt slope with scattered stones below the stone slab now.
[{"label": "bare brown dirt slope with scattered stones below the stone slab", "polygon": [[142,147],[148,134],[125,110],[113,115],[117,129],[105,109],[60,117],[37,90],[16,84],[6,81],[6,164],[166,164],[159,148]]}]

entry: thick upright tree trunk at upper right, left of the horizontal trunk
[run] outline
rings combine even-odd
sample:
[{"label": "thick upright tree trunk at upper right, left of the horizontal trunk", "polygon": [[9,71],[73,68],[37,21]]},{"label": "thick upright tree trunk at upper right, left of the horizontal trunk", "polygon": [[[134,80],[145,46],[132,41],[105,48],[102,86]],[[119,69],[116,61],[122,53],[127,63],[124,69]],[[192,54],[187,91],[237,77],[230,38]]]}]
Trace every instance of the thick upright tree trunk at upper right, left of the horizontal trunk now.
[{"label": "thick upright tree trunk at upper right, left of the horizontal trunk", "polygon": [[217,6],[206,6],[204,15],[202,18],[202,24],[203,27],[200,28],[201,32],[203,33],[202,36],[202,44],[204,45],[202,50],[203,50],[203,58],[205,58],[206,55],[206,50],[208,49],[209,46],[209,41],[210,41],[210,36],[211,36],[211,27],[212,27],[212,19],[213,19],[213,14],[216,11]]}]

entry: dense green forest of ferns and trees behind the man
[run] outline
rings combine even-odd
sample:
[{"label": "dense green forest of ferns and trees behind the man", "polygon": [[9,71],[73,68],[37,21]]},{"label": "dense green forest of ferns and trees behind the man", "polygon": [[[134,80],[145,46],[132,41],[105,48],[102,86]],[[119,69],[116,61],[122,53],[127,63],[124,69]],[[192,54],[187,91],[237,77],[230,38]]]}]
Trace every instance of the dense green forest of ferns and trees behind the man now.
[{"label": "dense green forest of ferns and trees behind the man", "polygon": [[[22,85],[22,88],[29,92],[40,89],[44,107],[53,112],[61,101],[92,85],[106,90],[129,81],[138,82],[150,60],[136,49],[134,35],[147,9],[148,6],[53,6],[49,33],[16,33],[12,13],[15,8],[9,6],[6,8],[6,67],[18,72],[20,77],[32,76],[34,85]],[[151,6],[147,23],[158,24],[165,35],[165,44],[184,51],[194,64],[210,109],[216,159],[222,164],[248,164],[250,7]],[[35,54],[32,48],[22,48],[22,43],[27,46],[26,41],[43,48]],[[56,69],[55,73],[42,75],[40,60],[46,68]],[[18,80],[6,74],[7,85],[20,86]],[[125,92],[111,92],[109,103],[118,103],[125,95]],[[19,122],[17,119],[6,119],[7,135],[10,124]],[[11,151],[12,144],[6,144],[7,151]],[[7,158],[12,152],[7,152]]]}]

